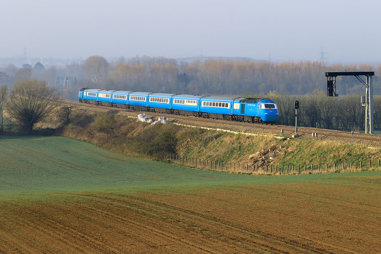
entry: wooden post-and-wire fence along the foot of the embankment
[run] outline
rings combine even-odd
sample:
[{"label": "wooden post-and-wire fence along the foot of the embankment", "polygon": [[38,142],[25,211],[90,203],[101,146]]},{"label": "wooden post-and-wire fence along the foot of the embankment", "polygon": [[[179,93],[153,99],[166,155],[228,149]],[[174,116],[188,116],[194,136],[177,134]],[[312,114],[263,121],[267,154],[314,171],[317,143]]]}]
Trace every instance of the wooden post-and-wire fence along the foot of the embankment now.
[{"label": "wooden post-and-wire fence along the foot of the embankment", "polygon": [[379,170],[380,160],[357,161],[349,163],[319,163],[314,164],[269,164],[253,165],[250,163],[232,163],[230,161],[205,160],[197,157],[185,157],[173,153],[168,153],[164,160],[173,164],[213,170],[229,173],[248,174],[271,174],[271,175],[300,175],[300,174],[322,174],[322,173],[342,173],[366,170]]}]

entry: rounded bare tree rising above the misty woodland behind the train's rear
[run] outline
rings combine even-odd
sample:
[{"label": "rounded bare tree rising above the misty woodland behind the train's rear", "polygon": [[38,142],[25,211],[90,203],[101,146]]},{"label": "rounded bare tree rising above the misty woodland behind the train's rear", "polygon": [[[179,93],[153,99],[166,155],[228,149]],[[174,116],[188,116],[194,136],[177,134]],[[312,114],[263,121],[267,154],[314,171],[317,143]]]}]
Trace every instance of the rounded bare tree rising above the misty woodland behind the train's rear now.
[{"label": "rounded bare tree rising above the misty woodland behind the train's rear", "polygon": [[107,80],[109,63],[103,56],[90,56],[83,63],[83,69],[93,83],[100,83]]}]

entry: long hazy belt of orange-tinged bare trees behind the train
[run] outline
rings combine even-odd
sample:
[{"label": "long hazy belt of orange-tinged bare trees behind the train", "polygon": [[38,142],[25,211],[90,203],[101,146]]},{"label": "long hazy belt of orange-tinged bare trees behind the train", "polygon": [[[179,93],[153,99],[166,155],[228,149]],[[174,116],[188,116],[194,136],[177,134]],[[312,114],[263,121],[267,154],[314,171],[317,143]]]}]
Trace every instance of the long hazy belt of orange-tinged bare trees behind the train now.
[{"label": "long hazy belt of orange-tinged bare trees behind the train", "polygon": [[[324,62],[224,61],[179,62],[173,58],[136,56],[108,62],[91,56],[82,63],[67,64],[62,69],[42,64],[16,68],[0,67],[0,85],[13,84],[31,77],[53,84],[57,75],[77,77],[79,87],[110,88],[126,91],[156,91],[183,94],[308,94],[326,87],[325,72],[375,71],[374,93],[381,94],[381,65],[327,65]],[[363,93],[354,77],[338,77],[339,94]]]}]

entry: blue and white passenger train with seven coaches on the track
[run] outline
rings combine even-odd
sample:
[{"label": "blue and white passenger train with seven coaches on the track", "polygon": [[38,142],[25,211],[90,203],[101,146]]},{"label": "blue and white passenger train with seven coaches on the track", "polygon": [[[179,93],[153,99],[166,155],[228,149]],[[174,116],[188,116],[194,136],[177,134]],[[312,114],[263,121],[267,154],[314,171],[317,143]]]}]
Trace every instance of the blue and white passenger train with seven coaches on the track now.
[{"label": "blue and white passenger train with seven coaches on the track", "polygon": [[78,98],[87,104],[271,125],[278,117],[277,104],[271,99],[89,88],[80,89]]}]

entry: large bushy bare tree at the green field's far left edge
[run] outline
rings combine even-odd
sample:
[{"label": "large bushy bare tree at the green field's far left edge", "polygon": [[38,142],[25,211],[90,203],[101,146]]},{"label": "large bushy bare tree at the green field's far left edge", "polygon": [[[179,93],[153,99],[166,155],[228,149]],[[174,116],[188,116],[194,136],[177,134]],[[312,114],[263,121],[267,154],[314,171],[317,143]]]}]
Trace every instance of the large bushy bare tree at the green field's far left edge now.
[{"label": "large bushy bare tree at the green field's far left edge", "polygon": [[22,132],[30,134],[33,126],[49,117],[61,103],[58,91],[45,80],[30,79],[14,83],[6,109]]}]

